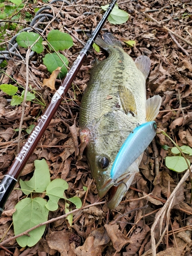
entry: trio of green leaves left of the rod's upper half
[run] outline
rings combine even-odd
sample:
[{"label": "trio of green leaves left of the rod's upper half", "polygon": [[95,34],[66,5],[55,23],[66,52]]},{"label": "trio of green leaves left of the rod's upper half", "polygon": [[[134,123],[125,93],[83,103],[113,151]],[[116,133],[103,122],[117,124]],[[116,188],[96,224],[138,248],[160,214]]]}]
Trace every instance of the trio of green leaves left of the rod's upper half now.
[{"label": "trio of green leaves left of the rod's upper half", "polygon": [[[36,53],[41,53],[44,51],[44,46],[42,45],[42,37],[34,32],[22,32],[16,38],[19,46],[24,48],[29,48]],[[56,68],[61,67],[58,77],[61,79],[67,74],[68,59],[57,51],[69,49],[73,46],[72,37],[59,30],[52,30],[47,36],[48,47],[50,50],[55,51],[54,53],[47,53],[44,58],[42,58],[44,64],[46,65],[48,71],[52,73]]]}]

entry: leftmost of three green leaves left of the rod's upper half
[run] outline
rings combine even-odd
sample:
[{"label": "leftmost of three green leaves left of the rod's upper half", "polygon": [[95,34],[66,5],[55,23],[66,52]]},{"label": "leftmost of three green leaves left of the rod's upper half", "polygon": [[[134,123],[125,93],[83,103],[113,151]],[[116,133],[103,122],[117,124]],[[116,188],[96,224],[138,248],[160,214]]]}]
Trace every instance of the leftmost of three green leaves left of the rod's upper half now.
[{"label": "leftmost of three green leaves left of the rod's upper half", "polygon": [[[34,44],[37,39],[38,41]],[[31,49],[36,53],[41,53],[44,50],[44,47],[42,46],[42,37],[34,32],[19,33],[17,35],[16,41],[19,46],[22,46],[24,48],[29,48],[34,44]]]}]

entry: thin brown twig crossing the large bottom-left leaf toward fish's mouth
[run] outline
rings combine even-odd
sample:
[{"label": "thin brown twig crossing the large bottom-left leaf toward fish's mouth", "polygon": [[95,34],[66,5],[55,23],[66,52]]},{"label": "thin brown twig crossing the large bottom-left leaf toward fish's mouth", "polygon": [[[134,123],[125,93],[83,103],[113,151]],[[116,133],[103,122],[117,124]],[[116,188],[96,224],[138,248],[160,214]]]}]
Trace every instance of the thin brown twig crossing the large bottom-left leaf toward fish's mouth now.
[{"label": "thin brown twig crossing the large bottom-left leaf toward fish's mouth", "polygon": [[43,225],[47,225],[47,224],[52,223],[52,222],[54,222],[54,221],[58,221],[58,220],[60,220],[60,219],[66,218],[68,215],[74,214],[74,212],[76,212],[76,211],[80,211],[80,210],[82,210],[82,209],[87,209],[87,208],[90,208],[90,207],[92,207],[92,206],[99,205],[99,204],[105,204],[105,203],[106,203],[106,201],[97,202],[97,203],[94,203],[94,204],[90,204],[90,205],[84,206],[84,207],[82,207],[82,208],[80,208],[80,209],[74,209],[74,210],[72,210],[72,211],[69,211],[67,214],[64,214],[64,215],[62,215],[62,216],[59,216],[59,217],[57,217],[57,218],[53,218],[53,219],[51,219],[51,220],[49,220],[49,221],[45,221],[45,222],[39,223],[38,225],[36,225],[36,226],[34,226],[34,227],[32,227],[32,228],[29,228],[29,229],[26,230],[25,232],[22,232],[22,233],[20,233],[20,234],[17,234],[16,236],[14,236],[14,237],[12,237],[12,238],[9,238],[9,239],[7,239],[7,240],[1,242],[1,243],[0,243],[0,246],[2,246],[2,245],[4,245],[4,244],[7,244],[7,243],[9,243],[10,241],[12,241],[12,240],[14,240],[14,239],[16,239],[16,238],[19,238],[19,237],[22,237],[22,236],[25,236],[25,235],[29,235],[29,232],[32,231],[32,230],[34,230],[34,229],[36,229],[37,227],[41,227],[41,226],[43,226]]}]

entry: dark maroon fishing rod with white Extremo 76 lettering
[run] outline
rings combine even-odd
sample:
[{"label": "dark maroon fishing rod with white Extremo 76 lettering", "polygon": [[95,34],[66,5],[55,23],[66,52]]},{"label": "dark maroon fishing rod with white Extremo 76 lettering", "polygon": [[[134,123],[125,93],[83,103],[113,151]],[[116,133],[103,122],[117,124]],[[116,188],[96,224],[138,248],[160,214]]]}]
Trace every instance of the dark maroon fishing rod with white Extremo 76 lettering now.
[{"label": "dark maroon fishing rod with white Extremo 76 lettering", "polygon": [[2,215],[5,203],[18,180],[20,173],[22,172],[23,168],[27,164],[31,154],[35,150],[36,145],[38,144],[40,138],[46,131],[55,112],[59,108],[62,98],[65,97],[65,94],[70,88],[75,76],[77,75],[80,67],[82,66],[83,61],[86,59],[91,47],[93,46],[94,40],[98,36],[106,19],[109,17],[116,2],[117,0],[112,0],[108,9],[106,10],[103,17],[101,18],[99,24],[93,31],[91,37],[88,39],[86,45],[83,47],[83,49],[80,51],[79,55],[77,56],[75,62],[73,63],[72,67],[67,73],[65,79],[63,79],[63,81],[61,82],[59,89],[53,95],[47,109],[40,116],[29,138],[21,148],[18,155],[15,157],[8,173],[4,176],[2,182],[0,183],[0,216]]}]

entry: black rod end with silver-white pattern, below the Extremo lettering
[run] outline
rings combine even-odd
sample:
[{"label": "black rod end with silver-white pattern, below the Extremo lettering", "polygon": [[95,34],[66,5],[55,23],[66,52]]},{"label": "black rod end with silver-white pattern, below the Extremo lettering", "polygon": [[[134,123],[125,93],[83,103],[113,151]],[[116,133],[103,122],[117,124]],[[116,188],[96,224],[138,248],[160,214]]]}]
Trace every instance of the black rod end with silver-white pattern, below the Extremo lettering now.
[{"label": "black rod end with silver-white pattern, below the Extremo lettering", "polygon": [[0,217],[4,210],[5,203],[11,194],[17,180],[9,175],[5,175],[0,183]]}]

